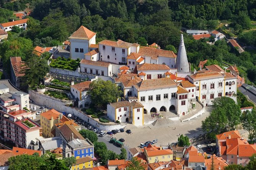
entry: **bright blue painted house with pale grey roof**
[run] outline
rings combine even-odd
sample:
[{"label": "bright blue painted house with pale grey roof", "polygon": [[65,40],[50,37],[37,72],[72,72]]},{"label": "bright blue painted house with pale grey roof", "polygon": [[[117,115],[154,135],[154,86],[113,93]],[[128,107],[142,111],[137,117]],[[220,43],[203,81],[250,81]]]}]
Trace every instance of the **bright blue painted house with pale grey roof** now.
[{"label": "bright blue painted house with pale grey roof", "polygon": [[76,159],[86,156],[94,158],[94,145],[88,139],[74,139],[68,142],[68,146]]}]

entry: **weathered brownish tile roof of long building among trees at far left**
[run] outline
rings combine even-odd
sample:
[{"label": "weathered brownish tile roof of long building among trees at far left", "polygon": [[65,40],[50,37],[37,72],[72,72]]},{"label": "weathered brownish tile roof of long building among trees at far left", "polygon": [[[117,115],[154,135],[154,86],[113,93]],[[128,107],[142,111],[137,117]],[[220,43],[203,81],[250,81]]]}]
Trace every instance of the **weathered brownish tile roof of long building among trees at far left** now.
[{"label": "weathered brownish tile roof of long building among trees at far left", "polygon": [[24,61],[21,61],[20,57],[11,57],[11,66],[13,67],[14,73],[16,77],[24,76],[22,73],[26,66],[24,66]]}]

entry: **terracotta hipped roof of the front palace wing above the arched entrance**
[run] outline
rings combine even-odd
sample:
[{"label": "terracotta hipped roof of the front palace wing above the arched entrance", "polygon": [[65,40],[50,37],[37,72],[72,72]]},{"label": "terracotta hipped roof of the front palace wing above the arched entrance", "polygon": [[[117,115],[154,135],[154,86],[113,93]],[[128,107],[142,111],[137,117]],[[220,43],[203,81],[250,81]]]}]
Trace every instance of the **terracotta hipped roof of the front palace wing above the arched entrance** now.
[{"label": "terracotta hipped roof of the front palace wing above the arched entrance", "polygon": [[169,79],[169,78],[161,78],[161,79],[148,79],[143,80],[142,82],[135,85],[137,90],[148,90],[148,89],[155,89],[155,88],[166,88],[166,87],[174,87],[177,84]]}]

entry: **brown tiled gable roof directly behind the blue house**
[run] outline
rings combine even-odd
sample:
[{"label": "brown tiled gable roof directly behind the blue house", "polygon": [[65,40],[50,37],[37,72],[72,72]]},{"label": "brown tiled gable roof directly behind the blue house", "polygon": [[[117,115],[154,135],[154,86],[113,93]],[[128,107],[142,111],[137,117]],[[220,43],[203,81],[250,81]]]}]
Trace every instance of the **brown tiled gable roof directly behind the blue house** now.
[{"label": "brown tiled gable roof directly behind the blue house", "polygon": [[74,139],[81,139],[84,140],[83,136],[70,124],[64,124],[61,127],[59,127],[59,130],[61,134],[64,136],[64,138],[70,142],[71,133],[74,135]]}]

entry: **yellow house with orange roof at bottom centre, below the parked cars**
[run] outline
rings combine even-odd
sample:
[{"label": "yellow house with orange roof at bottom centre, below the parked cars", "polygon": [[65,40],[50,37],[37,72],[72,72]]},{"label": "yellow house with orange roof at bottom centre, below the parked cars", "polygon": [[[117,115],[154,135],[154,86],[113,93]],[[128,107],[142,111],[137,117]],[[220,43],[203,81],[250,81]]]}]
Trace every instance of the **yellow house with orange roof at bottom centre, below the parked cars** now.
[{"label": "yellow house with orange roof at bottom centre, below the parked cars", "polygon": [[173,151],[171,149],[162,149],[162,147],[155,147],[149,144],[144,147],[144,154],[147,158],[148,164],[161,161],[173,160]]}]

